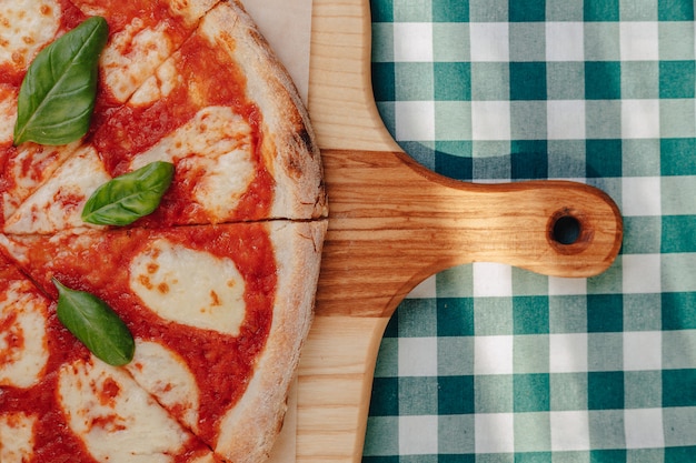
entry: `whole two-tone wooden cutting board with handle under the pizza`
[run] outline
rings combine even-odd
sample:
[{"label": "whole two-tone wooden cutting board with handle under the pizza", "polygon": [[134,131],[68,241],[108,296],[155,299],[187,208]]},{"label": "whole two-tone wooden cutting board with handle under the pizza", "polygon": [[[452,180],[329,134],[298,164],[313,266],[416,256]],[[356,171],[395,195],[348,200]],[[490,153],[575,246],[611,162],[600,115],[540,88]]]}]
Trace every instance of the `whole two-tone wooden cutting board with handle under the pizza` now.
[{"label": "whole two-tone wooden cutting board with handle under the pizza", "polygon": [[[381,335],[415,285],[474,261],[595,275],[618,253],[622,220],[584,184],[470,184],[417,165],[372,99],[368,0],[314,0],[312,14],[308,105],[330,213],[298,373],[297,462],[359,462]],[[555,230],[567,224],[578,236],[563,244]]]}]

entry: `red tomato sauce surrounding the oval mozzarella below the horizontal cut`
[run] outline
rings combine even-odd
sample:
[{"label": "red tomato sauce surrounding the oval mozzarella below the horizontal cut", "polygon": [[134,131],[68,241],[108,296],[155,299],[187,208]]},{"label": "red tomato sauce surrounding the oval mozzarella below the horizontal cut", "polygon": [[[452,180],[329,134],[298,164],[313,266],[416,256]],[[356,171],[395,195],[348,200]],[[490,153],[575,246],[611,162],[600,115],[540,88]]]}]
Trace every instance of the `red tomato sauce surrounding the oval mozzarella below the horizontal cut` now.
[{"label": "red tomato sauce surrounding the oval mozzarella below the horizontal cut", "polygon": [[[136,338],[160,342],[181,355],[197,379],[200,391],[199,435],[206,442],[213,442],[219,420],[243,394],[253,373],[256,359],[270,332],[277,273],[272,243],[266,227],[245,224],[131,229],[93,236],[96,242],[89,245],[72,242],[72,235],[67,240],[47,238],[37,241],[29,251],[32,263],[27,271],[38,279],[52,298],[57,293],[50,282],[51,276],[69,288],[98,295],[119,313]],[[130,290],[130,262],[148,243],[160,238],[235,262],[246,285],[246,318],[239,335],[231,336],[163,320],[145,306]],[[76,251],[69,255],[60,252],[70,248]],[[66,352],[64,349],[68,349],[67,352],[71,350],[61,346],[59,351]],[[83,349],[77,351],[83,352]]]}]

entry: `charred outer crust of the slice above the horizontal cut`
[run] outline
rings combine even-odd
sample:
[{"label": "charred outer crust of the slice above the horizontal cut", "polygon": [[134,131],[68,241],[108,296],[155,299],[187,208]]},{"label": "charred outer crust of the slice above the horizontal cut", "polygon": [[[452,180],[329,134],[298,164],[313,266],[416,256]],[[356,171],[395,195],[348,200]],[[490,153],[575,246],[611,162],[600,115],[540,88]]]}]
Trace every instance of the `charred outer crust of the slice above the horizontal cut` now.
[{"label": "charred outer crust of the slice above the horizontal cut", "polygon": [[264,117],[262,152],[276,181],[271,218],[328,215],[319,148],[295,83],[237,1],[218,3],[199,31],[227,51],[247,78],[247,98]]}]

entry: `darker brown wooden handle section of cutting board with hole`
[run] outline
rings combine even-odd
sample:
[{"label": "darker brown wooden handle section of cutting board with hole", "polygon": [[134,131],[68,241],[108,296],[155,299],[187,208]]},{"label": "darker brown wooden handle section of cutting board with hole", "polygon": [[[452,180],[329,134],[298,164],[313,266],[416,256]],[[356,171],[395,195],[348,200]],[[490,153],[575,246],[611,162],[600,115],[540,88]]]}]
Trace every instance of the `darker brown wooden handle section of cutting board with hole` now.
[{"label": "darker brown wooden handle section of cutting board with hole", "polygon": [[583,183],[465,183],[402,152],[325,150],[322,160],[330,215],[320,314],[389,316],[424,279],[471,262],[593,276],[622,245],[617,205]]}]

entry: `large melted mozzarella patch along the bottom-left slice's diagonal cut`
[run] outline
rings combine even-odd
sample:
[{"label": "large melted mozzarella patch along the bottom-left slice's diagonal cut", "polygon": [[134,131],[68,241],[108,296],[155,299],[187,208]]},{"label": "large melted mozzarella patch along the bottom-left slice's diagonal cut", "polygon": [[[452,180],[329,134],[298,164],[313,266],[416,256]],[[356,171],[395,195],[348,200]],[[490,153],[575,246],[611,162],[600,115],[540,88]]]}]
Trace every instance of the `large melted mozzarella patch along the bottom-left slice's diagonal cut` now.
[{"label": "large melted mozzarella patch along the bottom-left slice's diagonal cut", "polygon": [[68,425],[100,462],[170,463],[188,439],[126,371],[97,359],[61,368],[58,399]]}]

